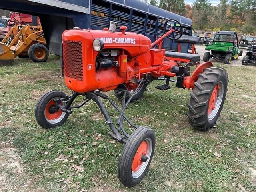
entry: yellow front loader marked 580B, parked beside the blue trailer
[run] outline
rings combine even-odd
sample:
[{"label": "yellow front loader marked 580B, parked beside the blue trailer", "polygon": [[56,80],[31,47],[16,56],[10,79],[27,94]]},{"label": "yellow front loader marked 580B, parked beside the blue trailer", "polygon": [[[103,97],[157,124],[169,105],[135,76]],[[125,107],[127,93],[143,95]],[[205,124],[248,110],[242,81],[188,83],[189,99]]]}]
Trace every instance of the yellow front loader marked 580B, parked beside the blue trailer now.
[{"label": "yellow front loader marked 580B, parked beside the blue trailer", "polygon": [[0,43],[0,65],[10,65],[16,57],[44,62],[49,52],[42,26],[15,25]]}]

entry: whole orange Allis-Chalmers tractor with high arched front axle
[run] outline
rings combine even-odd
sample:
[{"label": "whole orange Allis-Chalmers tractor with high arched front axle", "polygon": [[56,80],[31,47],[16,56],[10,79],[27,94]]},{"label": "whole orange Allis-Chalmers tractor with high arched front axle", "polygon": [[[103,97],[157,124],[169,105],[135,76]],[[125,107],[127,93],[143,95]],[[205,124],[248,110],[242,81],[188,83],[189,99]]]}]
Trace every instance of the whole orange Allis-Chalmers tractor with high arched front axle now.
[{"label": "whole orange Allis-Chalmers tractor with high arched front axle", "polygon": [[[174,26],[181,26],[177,30]],[[177,77],[176,87],[193,89],[188,104],[188,121],[198,130],[208,130],[217,121],[223,107],[228,85],[225,69],[214,67],[212,62],[200,64],[200,56],[161,49],[162,40],[182,36],[182,25],[168,20],[165,34],[155,42],[144,35],[115,32],[116,23],[104,30],[74,28],[62,35],[65,83],[73,91],[72,96],[52,90],[44,94],[36,105],[35,116],[43,128],[55,128],[63,124],[72,109],[80,108],[90,100],[96,102],[112,138],[125,146],[118,164],[118,178],[125,186],[135,186],[145,176],[155,148],[155,134],[145,126],[136,126],[124,114],[131,101],[137,100],[154,80],[166,84],[160,90],[170,89],[170,77]],[[178,35],[177,35],[178,34]],[[156,48],[158,46],[158,48]],[[196,66],[190,75],[190,67]],[[102,92],[114,90],[122,99],[119,108]],[[72,106],[77,96],[84,96],[80,105]],[[120,113],[117,122],[111,120],[101,99],[108,100]],[[123,126],[126,120],[134,131],[129,134]],[[116,126],[115,126],[116,125]],[[117,127],[117,128],[116,128]]]}]

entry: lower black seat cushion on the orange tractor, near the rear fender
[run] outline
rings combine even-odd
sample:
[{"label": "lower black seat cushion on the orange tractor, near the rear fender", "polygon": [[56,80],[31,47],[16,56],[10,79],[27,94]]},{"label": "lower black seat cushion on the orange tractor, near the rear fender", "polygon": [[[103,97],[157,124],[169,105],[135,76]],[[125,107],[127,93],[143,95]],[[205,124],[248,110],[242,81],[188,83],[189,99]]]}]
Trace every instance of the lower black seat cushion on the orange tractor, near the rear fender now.
[{"label": "lower black seat cushion on the orange tractor, near the rear fender", "polygon": [[171,57],[175,61],[189,60],[190,63],[200,62],[200,55],[190,53],[178,53],[178,52],[165,52],[166,57]]}]

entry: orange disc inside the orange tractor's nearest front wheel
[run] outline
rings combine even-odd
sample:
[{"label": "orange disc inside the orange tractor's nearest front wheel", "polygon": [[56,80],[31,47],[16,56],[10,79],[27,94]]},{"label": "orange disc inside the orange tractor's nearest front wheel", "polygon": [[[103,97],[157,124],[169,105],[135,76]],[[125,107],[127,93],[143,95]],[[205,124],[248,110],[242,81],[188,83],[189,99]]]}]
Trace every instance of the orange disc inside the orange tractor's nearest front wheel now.
[{"label": "orange disc inside the orange tractor's nearest front wheel", "polygon": [[147,151],[148,151],[148,144],[143,141],[140,146],[138,147],[138,150],[134,156],[134,159],[132,161],[132,171],[133,172],[137,172],[140,167],[142,166],[142,161],[141,161],[141,157],[142,155],[145,155],[147,154]]}]

